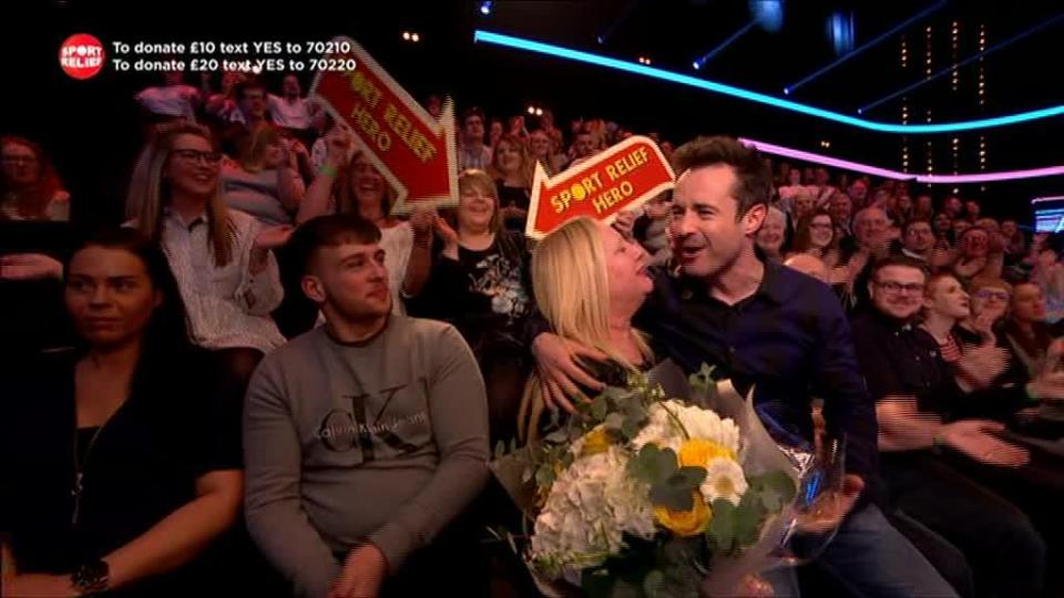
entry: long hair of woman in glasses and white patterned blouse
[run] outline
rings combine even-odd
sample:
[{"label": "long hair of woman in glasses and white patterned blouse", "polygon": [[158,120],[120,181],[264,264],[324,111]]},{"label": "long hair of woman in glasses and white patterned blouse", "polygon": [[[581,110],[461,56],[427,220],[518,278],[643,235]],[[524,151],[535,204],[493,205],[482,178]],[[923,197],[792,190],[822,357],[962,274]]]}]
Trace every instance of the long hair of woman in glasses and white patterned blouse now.
[{"label": "long hair of woman in glasses and white patterned blouse", "polygon": [[[125,198],[125,217],[135,223],[135,227],[147,238],[160,243],[163,231],[163,209],[170,202],[170,183],[163,177],[163,171],[170,161],[174,142],[181,135],[203,137],[214,146],[211,131],[203,125],[188,121],[174,121],[156,125],[154,134],[144,146],[130,177],[130,192]],[[233,224],[229,213],[222,200],[219,186],[207,200],[207,243],[214,252],[217,266],[225,266],[233,259]]]}]

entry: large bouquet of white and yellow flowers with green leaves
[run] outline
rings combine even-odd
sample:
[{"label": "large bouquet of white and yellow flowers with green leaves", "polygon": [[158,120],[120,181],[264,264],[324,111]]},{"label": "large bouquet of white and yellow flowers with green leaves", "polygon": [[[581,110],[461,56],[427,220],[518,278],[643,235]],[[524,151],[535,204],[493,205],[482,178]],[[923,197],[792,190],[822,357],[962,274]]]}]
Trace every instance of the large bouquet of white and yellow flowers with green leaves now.
[{"label": "large bouquet of white and yellow flowers with green leaves", "polygon": [[591,596],[734,594],[779,545],[792,463],[710,368],[677,372],[666,362],[631,375],[541,441],[497,448],[492,470],[532,522],[523,556],[545,594],[566,582]]}]

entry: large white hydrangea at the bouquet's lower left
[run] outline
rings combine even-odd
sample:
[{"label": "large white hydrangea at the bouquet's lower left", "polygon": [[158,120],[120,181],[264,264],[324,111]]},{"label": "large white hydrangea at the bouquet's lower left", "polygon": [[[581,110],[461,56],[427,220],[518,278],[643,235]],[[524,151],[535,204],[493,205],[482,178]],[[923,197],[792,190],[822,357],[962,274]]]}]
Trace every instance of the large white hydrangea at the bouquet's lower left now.
[{"label": "large white hydrangea at the bouquet's lower left", "polygon": [[623,546],[623,535],[654,536],[644,483],[628,477],[627,453],[611,446],[577,458],[551,486],[535,519],[532,558],[554,566],[598,565]]}]

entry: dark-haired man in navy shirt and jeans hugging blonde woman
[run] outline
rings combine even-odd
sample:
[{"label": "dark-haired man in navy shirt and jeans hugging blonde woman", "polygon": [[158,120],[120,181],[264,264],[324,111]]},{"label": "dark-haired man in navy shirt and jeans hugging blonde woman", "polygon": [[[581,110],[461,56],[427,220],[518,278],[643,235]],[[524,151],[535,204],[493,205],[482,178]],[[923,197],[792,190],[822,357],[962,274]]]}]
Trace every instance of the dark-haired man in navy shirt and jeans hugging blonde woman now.
[{"label": "dark-haired man in navy shirt and jeans hugging blonde woman", "polygon": [[[846,435],[848,454],[845,520],[818,563],[868,596],[953,596],[879,508],[859,501],[877,474],[874,411],[835,295],[755,254],[754,235],[771,195],[760,155],[735,140],[700,137],[673,159],[679,176],[669,226],[685,276],[657,277],[636,326],[688,371],[714,363],[740,392],[756,384],[758,410],[773,420],[766,423],[810,443],[810,396],[822,398],[828,433]],[[544,388],[563,408],[571,409],[565,394],[576,394],[573,382],[601,388],[572,355],[604,355],[549,333],[534,337],[533,351]],[[778,577],[777,596],[797,594],[792,578]]]}]

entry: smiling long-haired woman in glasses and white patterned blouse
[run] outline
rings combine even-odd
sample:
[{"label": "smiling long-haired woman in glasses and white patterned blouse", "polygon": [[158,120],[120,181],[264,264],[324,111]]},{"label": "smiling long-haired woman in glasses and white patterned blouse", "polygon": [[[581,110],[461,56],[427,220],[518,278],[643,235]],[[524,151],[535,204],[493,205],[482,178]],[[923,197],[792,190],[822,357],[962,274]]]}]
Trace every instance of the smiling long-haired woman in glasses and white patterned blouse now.
[{"label": "smiling long-haired woman in glasses and white patterned blouse", "polygon": [[222,157],[206,127],[158,125],[133,171],[125,209],[127,226],[166,254],[193,342],[219,351],[243,386],[263,355],[285,342],[269,317],[284,297],[272,250],[291,228],[263,228],[225,207]]}]

